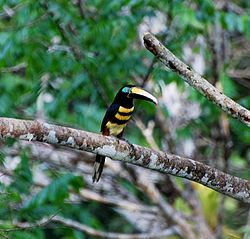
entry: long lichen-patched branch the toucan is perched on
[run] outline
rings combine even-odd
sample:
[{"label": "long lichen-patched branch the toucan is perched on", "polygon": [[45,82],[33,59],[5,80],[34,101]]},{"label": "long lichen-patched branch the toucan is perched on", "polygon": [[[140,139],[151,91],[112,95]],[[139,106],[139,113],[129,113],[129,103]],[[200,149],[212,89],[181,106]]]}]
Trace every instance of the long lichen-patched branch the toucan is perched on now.
[{"label": "long lichen-patched branch the toucan is perched on", "polygon": [[0,138],[40,141],[98,153],[141,167],[186,178],[250,203],[250,181],[178,155],[129,144],[114,137],[40,121],[0,118]]}]

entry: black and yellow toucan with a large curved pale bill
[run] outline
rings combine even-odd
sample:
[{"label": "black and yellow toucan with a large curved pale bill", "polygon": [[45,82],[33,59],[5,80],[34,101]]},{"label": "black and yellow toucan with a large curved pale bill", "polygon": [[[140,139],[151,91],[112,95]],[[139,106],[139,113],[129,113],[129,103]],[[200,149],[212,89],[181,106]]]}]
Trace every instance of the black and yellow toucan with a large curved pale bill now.
[{"label": "black and yellow toucan with a large curved pale bill", "polygon": [[[157,105],[157,99],[142,88],[134,85],[123,86],[116,94],[113,103],[107,109],[102,120],[102,135],[112,135],[118,138],[122,137],[124,128],[134,111],[134,99],[151,101]],[[93,182],[99,181],[104,163],[105,156],[97,154],[92,176]]]}]

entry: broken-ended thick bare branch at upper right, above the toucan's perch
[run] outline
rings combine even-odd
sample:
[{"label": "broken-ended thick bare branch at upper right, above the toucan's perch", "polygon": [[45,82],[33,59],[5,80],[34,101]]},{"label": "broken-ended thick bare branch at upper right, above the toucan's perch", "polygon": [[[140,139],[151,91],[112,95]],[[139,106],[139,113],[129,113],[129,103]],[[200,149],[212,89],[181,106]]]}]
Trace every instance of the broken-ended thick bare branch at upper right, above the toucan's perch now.
[{"label": "broken-ended thick bare branch at upper right, above the toucan's perch", "polygon": [[164,65],[181,76],[189,85],[206,96],[210,101],[218,105],[223,111],[239,119],[250,127],[250,111],[239,105],[231,98],[224,95],[217,88],[211,85],[206,79],[177,58],[152,34],[145,33],[144,45],[151,51]]}]

